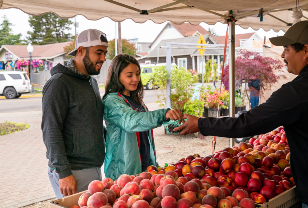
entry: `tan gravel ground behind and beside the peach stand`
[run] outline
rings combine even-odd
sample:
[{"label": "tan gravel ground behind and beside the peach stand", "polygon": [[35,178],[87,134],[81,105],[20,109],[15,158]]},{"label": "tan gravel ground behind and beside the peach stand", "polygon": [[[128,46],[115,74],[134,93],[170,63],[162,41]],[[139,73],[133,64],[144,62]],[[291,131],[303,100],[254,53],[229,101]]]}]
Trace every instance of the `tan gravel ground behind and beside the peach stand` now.
[{"label": "tan gravel ground behind and beside the peach stand", "polygon": [[[198,134],[198,138],[195,138],[194,134],[180,136],[178,134],[167,134],[164,136],[155,137],[155,148],[157,162],[160,166],[164,166],[165,163],[176,163],[180,158],[193,155],[195,153],[200,156],[206,156],[212,154],[212,136],[204,137]],[[236,144],[237,145],[237,144]],[[223,137],[216,138],[215,152],[222,150],[229,146],[229,139]],[[50,199],[43,202],[38,202],[24,208],[49,208]]]}]

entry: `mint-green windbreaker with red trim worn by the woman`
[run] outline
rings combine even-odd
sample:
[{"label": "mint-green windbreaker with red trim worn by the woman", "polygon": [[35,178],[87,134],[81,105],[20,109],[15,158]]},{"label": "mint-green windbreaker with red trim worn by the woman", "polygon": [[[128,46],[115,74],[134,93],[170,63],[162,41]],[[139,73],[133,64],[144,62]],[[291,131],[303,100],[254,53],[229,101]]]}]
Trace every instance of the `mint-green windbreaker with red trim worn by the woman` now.
[{"label": "mint-green windbreaker with red trim worn by the woman", "polygon": [[[144,104],[143,104],[144,105]],[[156,165],[153,130],[168,122],[165,114],[170,109],[137,113],[120,93],[110,93],[103,100],[104,120],[107,127],[104,172],[116,180],[122,174],[142,172],[139,132],[149,131],[150,165]]]}]

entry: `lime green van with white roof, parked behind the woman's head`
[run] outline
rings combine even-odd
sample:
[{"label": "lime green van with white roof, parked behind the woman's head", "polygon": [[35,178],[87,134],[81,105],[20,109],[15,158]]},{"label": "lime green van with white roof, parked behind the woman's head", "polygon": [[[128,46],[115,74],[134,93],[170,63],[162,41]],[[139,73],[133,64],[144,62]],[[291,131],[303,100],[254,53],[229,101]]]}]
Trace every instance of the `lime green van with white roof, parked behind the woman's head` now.
[{"label": "lime green van with white roof, parked behind the woman's head", "polygon": [[[149,83],[149,78],[152,75],[153,71],[155,71],[156,67],[166,66],[166,63],[160,64],[140,64],[141,72],[140,72],[140,79],[147,90],[152,90],[153,86]],[[171,64],[171,70],[177,68],[175,63]]]}]

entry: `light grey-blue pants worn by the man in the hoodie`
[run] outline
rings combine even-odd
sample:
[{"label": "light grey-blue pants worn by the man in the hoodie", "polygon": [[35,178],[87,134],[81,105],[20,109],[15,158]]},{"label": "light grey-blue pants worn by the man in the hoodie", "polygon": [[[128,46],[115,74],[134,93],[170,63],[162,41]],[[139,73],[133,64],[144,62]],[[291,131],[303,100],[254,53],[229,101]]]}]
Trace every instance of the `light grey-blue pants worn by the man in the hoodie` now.
[{"label": "light grey-blue pants worn by the man in the hoodie", "polygon": [[[78,171],[72,171],[74,178],[77,181],[77,191],[85,191],[88,185],[93,180],[102,180],[102,172],[99,167],[84,168]],[[59,188],[59,174],[54,169],[48,167],[48,177],[52,188],[54,189],[56,198],[63,198]]]}]

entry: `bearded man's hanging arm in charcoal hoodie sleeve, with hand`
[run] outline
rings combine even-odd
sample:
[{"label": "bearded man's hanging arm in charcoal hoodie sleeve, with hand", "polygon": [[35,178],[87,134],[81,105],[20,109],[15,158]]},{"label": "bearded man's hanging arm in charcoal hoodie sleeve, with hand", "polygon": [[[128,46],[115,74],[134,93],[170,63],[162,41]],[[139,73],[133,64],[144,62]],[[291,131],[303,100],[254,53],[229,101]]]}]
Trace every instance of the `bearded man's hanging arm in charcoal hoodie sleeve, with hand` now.
[{"label": "bearded man's hanging arm in charcoal hoodie sleeve, with hand", "polygon": [[[50,80],[43,89],[42,132],[47,154],[56,173],[59,174],[59,186],[63,193],[75,193],[76,180],[67,160],[63,140],[63,123],[68,110],[68,91],[65,83],[58,79]],[[69,176],[69,177],[68,177]],[[63,182],[60,184],[60,180]],[[61,192],[62,192],[61,191]]]}]

